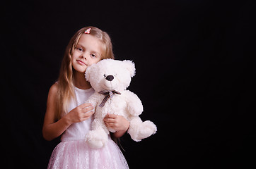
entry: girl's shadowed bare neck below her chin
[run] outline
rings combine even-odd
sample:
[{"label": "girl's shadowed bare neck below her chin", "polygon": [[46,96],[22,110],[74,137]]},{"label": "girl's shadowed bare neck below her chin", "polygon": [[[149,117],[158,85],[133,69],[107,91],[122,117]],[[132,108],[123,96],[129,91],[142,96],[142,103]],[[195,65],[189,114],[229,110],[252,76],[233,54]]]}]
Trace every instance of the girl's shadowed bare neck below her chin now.
[{"label": "girl's shadowed bare neck below her chin", "polygon": [[74,86],[79,89],[90,89],[91,84],[86,81],[84,73],[74,72]]}]

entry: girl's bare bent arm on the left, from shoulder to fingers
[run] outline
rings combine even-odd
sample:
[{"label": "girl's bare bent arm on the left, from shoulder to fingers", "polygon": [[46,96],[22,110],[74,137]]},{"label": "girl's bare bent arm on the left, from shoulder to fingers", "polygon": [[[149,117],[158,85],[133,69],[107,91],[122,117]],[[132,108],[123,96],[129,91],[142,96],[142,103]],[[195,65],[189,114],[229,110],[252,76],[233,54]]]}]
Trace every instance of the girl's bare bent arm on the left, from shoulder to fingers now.
[{"label": "girl's bare bent arm on the left, from shoulder to fingers", "polygon": [[94,113],[91,111],[93,110],[93,106],[91,106],[91,104],[81,104],[56,122],[56,96],[57,83],[53,84],[50,88],[47,99],[45,121],[42,127],[42,135],[48,141],[59,137],[72,123],[78,123],[83,120],[87,120]]}]

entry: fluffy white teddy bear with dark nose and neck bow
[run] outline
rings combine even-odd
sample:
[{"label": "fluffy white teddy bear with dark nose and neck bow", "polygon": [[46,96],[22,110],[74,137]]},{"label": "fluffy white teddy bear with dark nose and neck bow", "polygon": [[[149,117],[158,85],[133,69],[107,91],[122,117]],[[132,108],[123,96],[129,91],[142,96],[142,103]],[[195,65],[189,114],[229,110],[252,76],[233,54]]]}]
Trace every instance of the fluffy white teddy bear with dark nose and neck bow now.
[{"label": "fluffy white teddy bear with dark nose and neck bow", "polygon": [[143,111],[139,97],[127,90],[134,75],[135,66],[132,61],[104,59],[86,69],[86,80],[95,90],[86,101],[95,107],[92,130],[86,135],[86,142],[92,148],[104,146],[108,134],[115,132],[107,128],[103,121],[107,113],[126,118],[129,121],[128,133],[136,142],[156,133],[156,125],[149,120],[142,122],[139,118]]}]

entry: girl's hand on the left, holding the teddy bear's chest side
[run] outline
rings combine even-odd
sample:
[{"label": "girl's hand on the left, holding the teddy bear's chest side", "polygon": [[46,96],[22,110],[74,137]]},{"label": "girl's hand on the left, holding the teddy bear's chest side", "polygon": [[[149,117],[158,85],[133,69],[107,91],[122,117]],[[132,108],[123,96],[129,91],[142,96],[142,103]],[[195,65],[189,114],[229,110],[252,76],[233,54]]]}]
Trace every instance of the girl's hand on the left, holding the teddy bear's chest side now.
[{"label": "girl's hand on the left, holding the teddy bear's chest side", "polygon": [[93,115],[94,111],[93,110],[92,104],[81,104],[80,106],[77,106],[76,108],[72,109],[67,113],[64,118],[70,123],[78,123],[84,120],[87,120],[88,118]]}]

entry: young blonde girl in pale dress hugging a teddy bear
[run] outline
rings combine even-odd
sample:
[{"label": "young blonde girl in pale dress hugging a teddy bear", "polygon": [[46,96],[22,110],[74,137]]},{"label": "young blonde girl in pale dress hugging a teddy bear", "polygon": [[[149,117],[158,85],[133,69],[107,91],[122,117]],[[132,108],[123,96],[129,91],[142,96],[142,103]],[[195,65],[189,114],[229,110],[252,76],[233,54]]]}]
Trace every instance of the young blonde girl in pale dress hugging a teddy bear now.
[{"label": "young blonde girl in pale dress hugging a teddy bear", "polygon": [[[62,61],[59,80],[50,88],[42,128],[47,140],[62,135],[50,158],[48,168],[128,168],[119,147],[110,139],[102,149],[91,149],[84,141],[91,128],[93,106],[85,104],[94,90],[85,80],[88,66],[101,59],[114,58],[106,32],[83,27],[71,38]],[[122,137],[129,122],[120,115],[106,115],[105,124]]]}]

